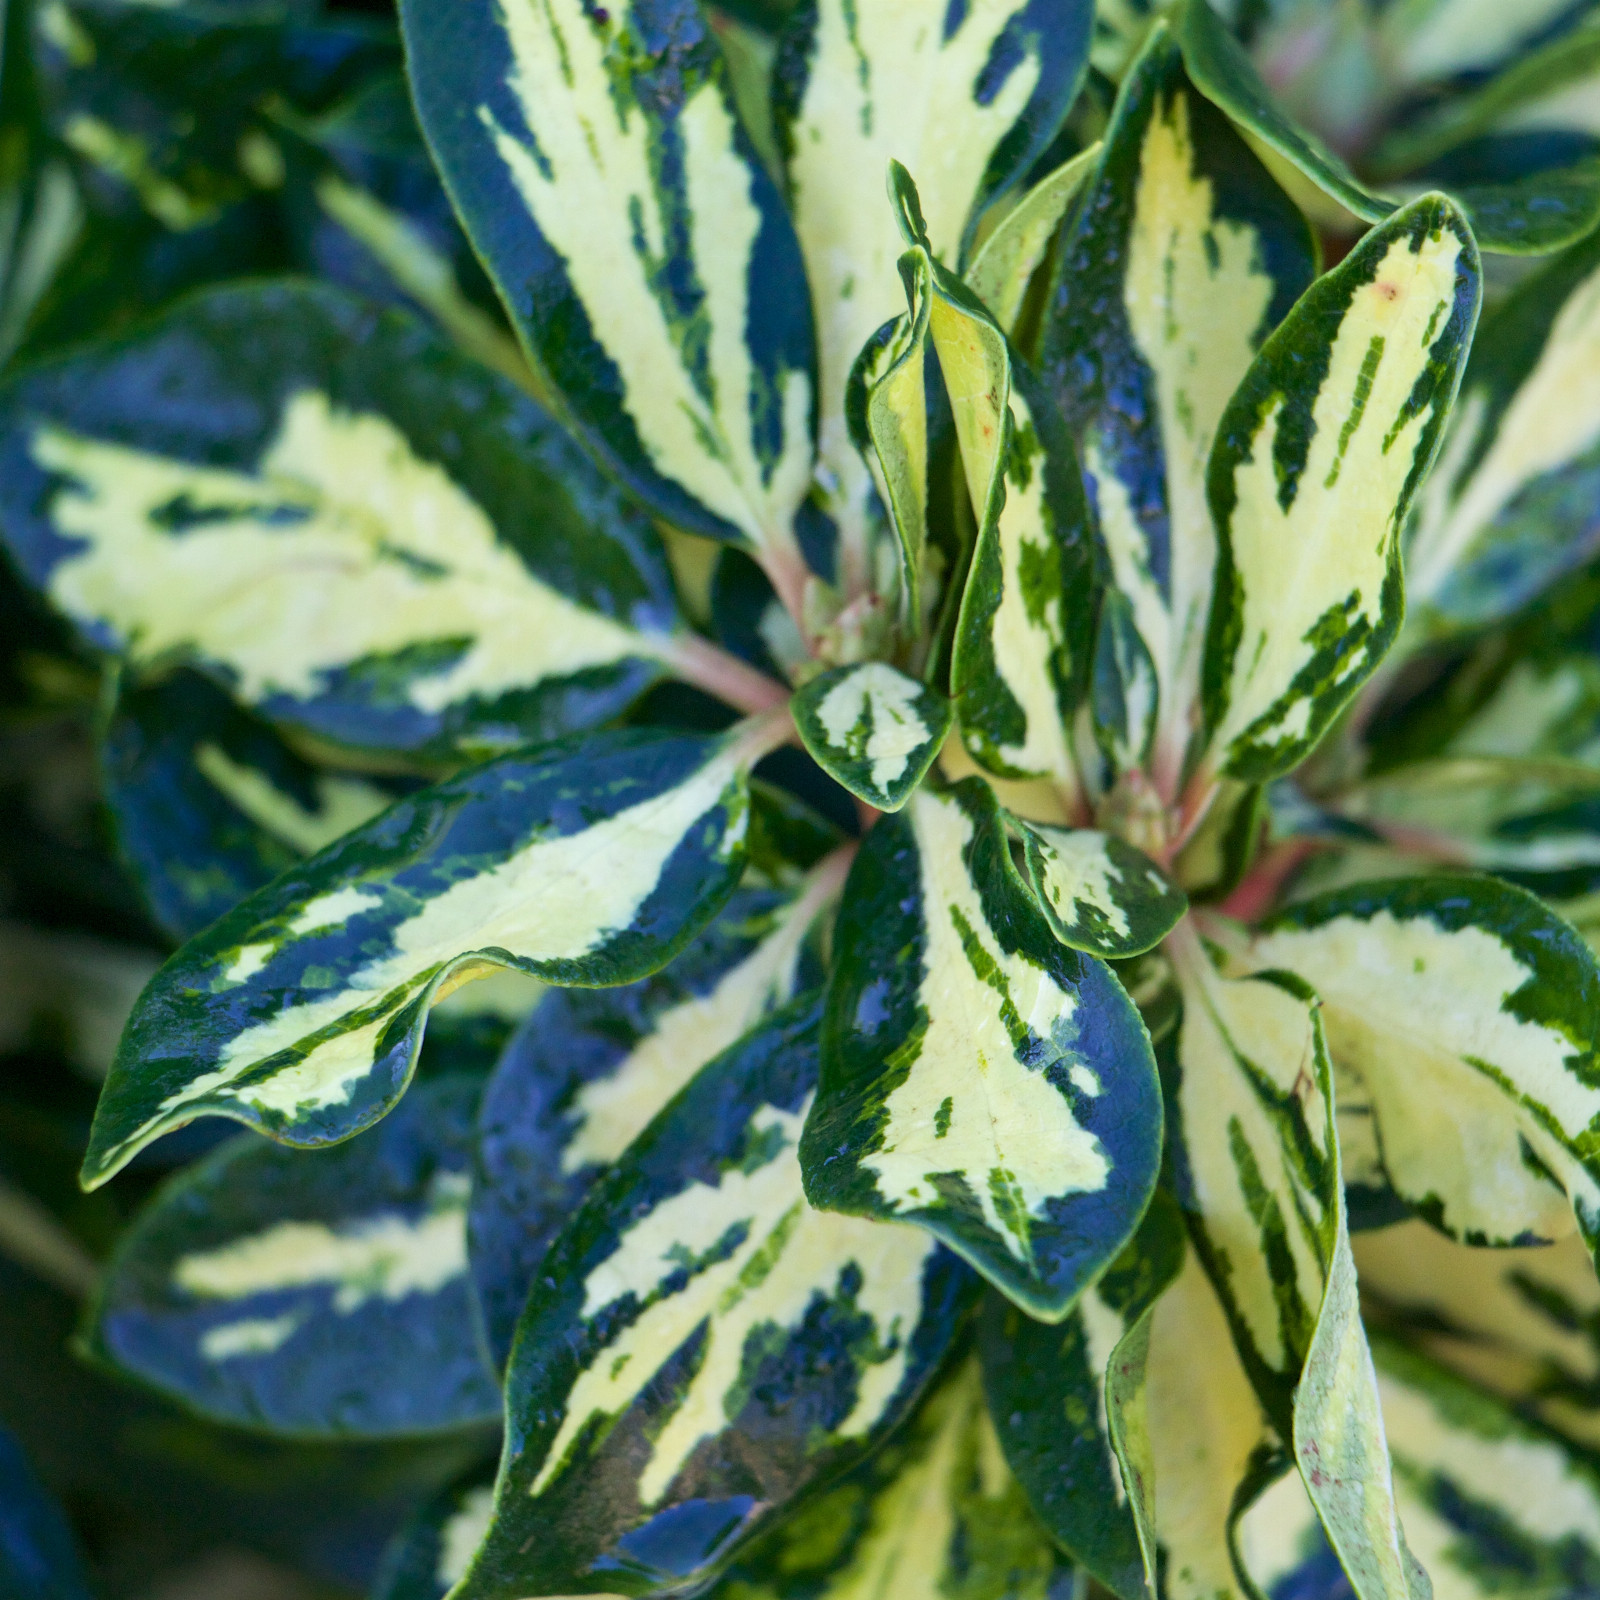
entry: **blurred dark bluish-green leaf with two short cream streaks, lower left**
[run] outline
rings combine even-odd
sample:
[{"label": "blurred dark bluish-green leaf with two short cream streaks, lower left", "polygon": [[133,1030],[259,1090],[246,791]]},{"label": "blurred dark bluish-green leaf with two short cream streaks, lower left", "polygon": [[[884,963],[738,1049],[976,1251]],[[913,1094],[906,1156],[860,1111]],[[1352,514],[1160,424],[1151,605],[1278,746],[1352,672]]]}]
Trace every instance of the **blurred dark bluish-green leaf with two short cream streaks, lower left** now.
[{"label": "blurred dark bluish-green leaf with two short cream streaks, lower left", "polygon": [[242,1134],[186,1168],[120,1240],[91,1350],[202,1416],[275,1434],[493,1421],[467,1275],[480,1088],[426,1083],[320,1160]]}]

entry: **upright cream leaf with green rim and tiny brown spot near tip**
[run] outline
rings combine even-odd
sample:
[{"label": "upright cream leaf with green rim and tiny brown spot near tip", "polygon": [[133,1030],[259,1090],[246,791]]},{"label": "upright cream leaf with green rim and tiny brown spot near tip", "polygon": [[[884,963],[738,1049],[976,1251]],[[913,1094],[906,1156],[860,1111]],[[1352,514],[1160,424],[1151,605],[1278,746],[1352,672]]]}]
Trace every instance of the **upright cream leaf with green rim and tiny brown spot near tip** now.
[{"label": "upright cream leaf with green rim and tiny brown spot near tip", "polygon": [[1218,424],[1221,539],[1205,650],[1211,760],[1288,771],[1400,627],[1400,530],[1478,312],[1461,213],[1424,195],[1374,227],[1261,347]]}]

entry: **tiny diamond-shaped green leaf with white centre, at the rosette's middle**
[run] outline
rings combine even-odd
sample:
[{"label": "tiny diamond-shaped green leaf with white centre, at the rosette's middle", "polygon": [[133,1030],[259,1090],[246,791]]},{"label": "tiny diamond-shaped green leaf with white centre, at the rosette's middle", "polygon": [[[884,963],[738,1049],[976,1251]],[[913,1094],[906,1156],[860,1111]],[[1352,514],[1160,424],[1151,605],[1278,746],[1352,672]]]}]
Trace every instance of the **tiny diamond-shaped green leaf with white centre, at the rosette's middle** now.
[{"label": "tiny diamond-shaped green leaf with white centre, at the rosette's middle", "polygon": [[789,709],[818,766],[880,811],[910,798],[955,720],[942,694],[882,661],[819,674]]}]

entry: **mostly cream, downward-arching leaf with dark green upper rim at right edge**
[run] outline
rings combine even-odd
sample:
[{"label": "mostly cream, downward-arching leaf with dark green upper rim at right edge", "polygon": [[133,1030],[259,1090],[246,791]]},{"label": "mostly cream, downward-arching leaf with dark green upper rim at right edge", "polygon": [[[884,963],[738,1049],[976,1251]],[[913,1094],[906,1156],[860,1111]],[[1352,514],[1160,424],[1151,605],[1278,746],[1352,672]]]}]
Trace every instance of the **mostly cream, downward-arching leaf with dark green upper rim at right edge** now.
[{"label": "mostly cream, downward-arching leaf with dark green upper rim at right edge", "polygon": [[1362,883],[1251,942],[1322,997],[1395,1192],[1472,1243],[1600,1243],[1600,971],[1578,934],[1493,878]]}]

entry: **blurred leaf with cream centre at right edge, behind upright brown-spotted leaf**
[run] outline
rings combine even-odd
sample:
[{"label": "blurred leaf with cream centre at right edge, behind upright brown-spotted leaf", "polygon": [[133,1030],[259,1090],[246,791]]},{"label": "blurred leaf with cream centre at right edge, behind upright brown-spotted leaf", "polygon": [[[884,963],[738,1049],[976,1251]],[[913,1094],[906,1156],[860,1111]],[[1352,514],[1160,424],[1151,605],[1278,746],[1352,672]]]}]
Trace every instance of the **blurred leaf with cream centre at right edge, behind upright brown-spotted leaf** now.
[{"label": "blurred leaf with cream centre at right edge, behind upright brown-spotted leaf", "polygon": [[1406,597],[1426,632],[1482,627],[1600,544],[1600,235],[1520,283],[1472,344],[1418,498]]}]

